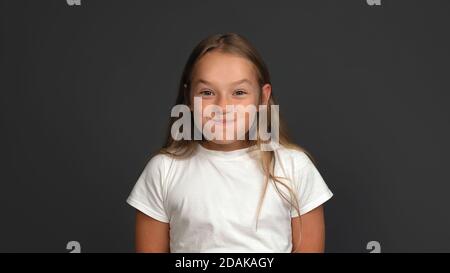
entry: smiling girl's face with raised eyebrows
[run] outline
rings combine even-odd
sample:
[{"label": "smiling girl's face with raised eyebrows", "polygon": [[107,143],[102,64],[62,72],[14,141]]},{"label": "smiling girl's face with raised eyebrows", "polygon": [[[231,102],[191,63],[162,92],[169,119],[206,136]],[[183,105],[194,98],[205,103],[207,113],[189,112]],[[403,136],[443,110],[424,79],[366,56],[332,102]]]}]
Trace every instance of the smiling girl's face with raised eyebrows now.
[{"label": "smiling girl's face with raised eyebrows", "polygon": [[[202,99],[202,125],[208,127],[214,135],[222,135],[221,139],[211,140],[216,144],[232,144],[238,140],[238,132],[247,133],[253,118],[243,109],[267,104],[271,92],[270,84],[262,88],[258,84],[256,68],[249,60],[238,55],[212,51],[206,53],[196,63],[191,85],[191,105],[194,97]],[[217,105],[220,108],[214,108]],[[228,112],[227,105],[234,107],[236,112]],[[208,107],[209,106],[209,107]],[[215,109],[211,111],[211,109]],[[220,109],[220,113],[215,113]],[[208,111],[209,110],[209,111]],[[239,114],[241,113],[241,115]],[[238,117],[245,117],[243,122],[237,122]],[[227,136],[230,129],[234,136]]]}]

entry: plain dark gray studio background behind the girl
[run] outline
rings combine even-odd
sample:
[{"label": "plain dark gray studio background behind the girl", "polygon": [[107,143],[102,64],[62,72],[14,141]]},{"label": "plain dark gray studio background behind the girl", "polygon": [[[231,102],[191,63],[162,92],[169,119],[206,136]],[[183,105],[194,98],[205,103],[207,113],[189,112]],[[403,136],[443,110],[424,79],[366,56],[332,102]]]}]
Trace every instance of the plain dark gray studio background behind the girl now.
[{"label": "plain dark gray studio background behind the girl", "polygon": [[261,52],[327,251],[450,251],[450,1],[1,1],[0,252],[133,251],[125,203],[212,33]]}]

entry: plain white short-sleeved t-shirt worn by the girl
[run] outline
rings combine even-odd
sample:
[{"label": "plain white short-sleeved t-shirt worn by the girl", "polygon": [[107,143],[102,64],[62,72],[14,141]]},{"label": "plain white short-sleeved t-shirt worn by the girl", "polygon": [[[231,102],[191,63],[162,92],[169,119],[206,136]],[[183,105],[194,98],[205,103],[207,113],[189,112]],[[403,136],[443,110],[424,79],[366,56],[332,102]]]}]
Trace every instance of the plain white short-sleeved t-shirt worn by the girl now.
[{"label": "plain white short-sleeved t-shirt worn by the girl", "polygon": [[[298,214],[270,181],[256,226],[265,183],[256,146],[227,152],[197,147],[188,159],[152,157],[127,199],[169,223],[170,252],[291,252],[291,217]],[[283,182],[296,192],[301,215],[333,196],[304,152],[280,147],[275,153],[275,174],[289,178]]]}]

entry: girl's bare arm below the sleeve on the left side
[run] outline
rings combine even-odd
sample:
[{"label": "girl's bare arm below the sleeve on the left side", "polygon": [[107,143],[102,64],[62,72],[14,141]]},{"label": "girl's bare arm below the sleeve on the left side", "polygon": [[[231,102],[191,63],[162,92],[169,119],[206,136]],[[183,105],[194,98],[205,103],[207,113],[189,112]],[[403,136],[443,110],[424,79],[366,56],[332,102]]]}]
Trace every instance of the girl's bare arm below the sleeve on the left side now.
[{"label": "girl's bare arm below the sleeve on the left side", "polygon": [[169,224],[136,210],[136,252],[170,252]]}]

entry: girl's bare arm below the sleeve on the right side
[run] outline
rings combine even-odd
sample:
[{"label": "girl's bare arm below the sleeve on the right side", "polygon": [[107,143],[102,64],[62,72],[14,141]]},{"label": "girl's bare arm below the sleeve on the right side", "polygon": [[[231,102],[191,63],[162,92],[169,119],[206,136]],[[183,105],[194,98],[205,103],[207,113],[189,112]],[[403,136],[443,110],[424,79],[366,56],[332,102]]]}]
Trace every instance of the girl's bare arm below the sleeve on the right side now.
[{"label": "girl's bare arm below the sleeve on the right side", "polygon": [[[292,224],[292,252],[319,252],[325,251],[325,219],[323,206],[305,213],[301,216],[301,224],[298,217],[291,220]],[[301,228],[301,231],[300,231]],[[295,246],[300,239],[300,245]]]}]

